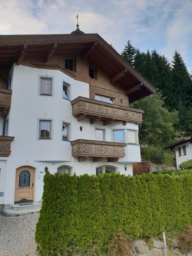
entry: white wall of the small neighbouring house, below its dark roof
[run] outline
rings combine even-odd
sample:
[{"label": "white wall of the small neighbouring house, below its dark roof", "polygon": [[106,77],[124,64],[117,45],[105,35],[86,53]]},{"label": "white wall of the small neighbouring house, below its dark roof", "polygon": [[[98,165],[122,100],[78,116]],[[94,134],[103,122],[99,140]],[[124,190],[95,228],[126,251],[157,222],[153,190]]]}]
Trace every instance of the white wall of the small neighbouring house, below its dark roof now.
[{"label": "white wall of the small neighbouring house, below its dark roof", "polygon": [[[186,148],[186,155],[183,155],[183,146],[185,146]],[[179,150],[178,150],[179,147],[181,148],[181,156],[179,156]],[[192,144],[187,142],[179,146],[176,146],[175,154],[176,154],[177,168],[179,168],[179,165],[182,162],[192,159]]]}]

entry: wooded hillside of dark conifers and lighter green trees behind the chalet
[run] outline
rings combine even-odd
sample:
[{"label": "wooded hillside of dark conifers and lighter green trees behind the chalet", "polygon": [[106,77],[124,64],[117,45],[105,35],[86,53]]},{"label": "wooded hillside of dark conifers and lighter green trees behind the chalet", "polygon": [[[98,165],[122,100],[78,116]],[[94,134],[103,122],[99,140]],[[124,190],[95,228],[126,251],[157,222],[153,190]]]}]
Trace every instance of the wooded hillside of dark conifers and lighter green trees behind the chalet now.
[{"label": "wooded hillside of dark conifers and lighter green trees behind the chalet", "polygon": [[192,135],[192,75],[181,54],[175,51],[170,62],[155,49],[141,52],[128,40],[121,56],[158,89],[130,105],[144,110],[140,144],[163,148]]}]

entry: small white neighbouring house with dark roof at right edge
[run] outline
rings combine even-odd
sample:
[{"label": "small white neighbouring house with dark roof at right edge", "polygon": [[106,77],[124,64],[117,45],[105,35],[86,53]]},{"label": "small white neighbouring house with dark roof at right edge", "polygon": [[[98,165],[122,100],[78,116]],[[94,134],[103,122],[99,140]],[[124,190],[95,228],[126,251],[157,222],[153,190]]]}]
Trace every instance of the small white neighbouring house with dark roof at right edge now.
[{"label": "small white neighbouring house with dark roof at right edge", "polygon": [[184,137],[182,140],[164,147],[164,149],[175,151],[175,161],[178,169],[182,162],[192,159],[192,136]]}]

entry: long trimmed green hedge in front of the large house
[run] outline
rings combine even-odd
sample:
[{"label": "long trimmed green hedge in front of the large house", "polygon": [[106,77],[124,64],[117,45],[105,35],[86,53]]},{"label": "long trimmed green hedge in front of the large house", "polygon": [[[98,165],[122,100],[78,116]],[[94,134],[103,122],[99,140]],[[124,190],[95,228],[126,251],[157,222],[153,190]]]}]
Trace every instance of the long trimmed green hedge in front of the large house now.
[{"label": "long trimmed green hedge in front of the large house", "polygon": [[35,240],[41,255],[105,245],[120,231],[159,237],[192,224],[192,175],[46,173]]}]

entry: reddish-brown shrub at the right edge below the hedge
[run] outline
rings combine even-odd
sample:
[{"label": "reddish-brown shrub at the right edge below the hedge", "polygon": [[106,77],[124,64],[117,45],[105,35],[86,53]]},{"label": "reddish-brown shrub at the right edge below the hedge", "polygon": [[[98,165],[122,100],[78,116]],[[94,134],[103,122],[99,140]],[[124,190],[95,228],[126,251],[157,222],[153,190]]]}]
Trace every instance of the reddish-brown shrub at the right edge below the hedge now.
[{"label": "reddish-brown shrub at the right edge below the hedge", "polygon": [[187,254],[189,251],[192,251],[192,227],[189,225],[184,228],[178,236],[178,246],[181,250],[181,253]]}]

